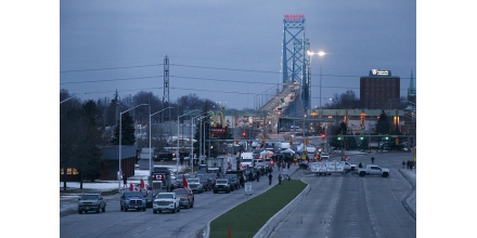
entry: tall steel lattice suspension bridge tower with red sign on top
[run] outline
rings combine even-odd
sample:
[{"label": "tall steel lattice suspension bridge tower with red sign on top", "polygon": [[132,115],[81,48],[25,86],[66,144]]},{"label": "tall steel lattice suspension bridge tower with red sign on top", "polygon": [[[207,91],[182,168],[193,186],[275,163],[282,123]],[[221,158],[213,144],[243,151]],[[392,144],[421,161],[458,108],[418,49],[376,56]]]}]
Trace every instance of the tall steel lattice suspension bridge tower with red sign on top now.
[{"label": "tall steel lattice suspension bridge tower with red sign on top", "polygon": [[310,56],[307,54],[309,50],[310,41],[305,38],[305,15],[285,14],[283,18],[282,83],[301,84],[299,101],[295,101],[291,108],[295,114],[305,113],[307,108],[311,107]]}]

